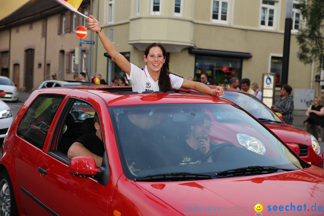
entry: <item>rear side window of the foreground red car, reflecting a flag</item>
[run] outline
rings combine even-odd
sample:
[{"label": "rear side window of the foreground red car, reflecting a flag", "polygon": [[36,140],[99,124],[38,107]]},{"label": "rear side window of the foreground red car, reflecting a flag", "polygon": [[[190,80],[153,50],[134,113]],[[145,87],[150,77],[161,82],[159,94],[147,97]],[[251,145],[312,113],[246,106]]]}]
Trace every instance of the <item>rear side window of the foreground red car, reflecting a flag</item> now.
[{"label": "rear side window of the foreground red car, reflecting a flag", "polygon": [[41,95],[30,105],[21,120],[17,135],[42,149],[48,129],[64,96]]}]

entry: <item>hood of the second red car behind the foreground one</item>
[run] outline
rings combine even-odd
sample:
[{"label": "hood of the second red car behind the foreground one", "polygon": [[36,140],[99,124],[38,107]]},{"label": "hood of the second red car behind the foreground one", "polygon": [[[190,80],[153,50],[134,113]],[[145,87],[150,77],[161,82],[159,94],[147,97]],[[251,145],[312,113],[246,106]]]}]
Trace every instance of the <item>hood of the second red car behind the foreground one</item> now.
[{"label": "hood of the second red car behind the foreground one", "polygon": [[295,143],[311,146],[310,134],[290,124],[266,124],[285,143]]}]

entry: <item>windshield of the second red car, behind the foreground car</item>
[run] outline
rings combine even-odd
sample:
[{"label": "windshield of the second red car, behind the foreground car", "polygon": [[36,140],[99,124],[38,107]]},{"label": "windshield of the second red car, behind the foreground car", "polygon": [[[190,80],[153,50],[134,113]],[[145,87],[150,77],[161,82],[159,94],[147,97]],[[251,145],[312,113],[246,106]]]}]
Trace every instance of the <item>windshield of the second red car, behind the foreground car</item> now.
[{"label": "windshield of the second red car, behind the foreground car", "polygon": [[232,101],[233,103],[247,110],[254,117],[258,119],[269,119],[271,121],[282,122],[281,119],[274,112],[272,112],[269,107],[263,104],[256,97],[234,91],[224,91],[224,93],[225,94],[221,97]]}]

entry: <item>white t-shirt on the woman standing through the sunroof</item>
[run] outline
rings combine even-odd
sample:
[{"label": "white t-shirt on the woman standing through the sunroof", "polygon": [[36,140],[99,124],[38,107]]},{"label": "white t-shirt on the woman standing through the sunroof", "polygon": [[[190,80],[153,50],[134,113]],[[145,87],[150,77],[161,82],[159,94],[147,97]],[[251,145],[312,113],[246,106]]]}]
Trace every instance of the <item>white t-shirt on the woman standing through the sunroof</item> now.
[{"label": "white t-shirt on the woman standing through the sunroof", "polygon": [[[148,73],[147,66],[145,69],[137,67],[135,64],[131,63],[131,73],[128,74],[127,79],[132,83],[133,92],[156,92],[160,91],[158,82],[154,82]],[[174,74],[169,74],[172,88],[179,89],[183,83],[183,78],[176,76]]]}]

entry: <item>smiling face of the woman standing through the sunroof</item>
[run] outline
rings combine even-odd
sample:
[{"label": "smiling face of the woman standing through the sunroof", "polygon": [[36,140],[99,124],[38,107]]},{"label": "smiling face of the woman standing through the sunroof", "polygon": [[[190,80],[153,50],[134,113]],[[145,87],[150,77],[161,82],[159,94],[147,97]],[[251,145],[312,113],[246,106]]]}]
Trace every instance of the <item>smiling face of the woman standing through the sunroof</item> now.
[{"label": "smiling face of the woman standing through the sunroof", "polygon": [[162,50],[159,47],[152,47],[148,55],[144,55],[144,61],[147,62],[147,69],[152,72],[160,72],[165,62]]}]

